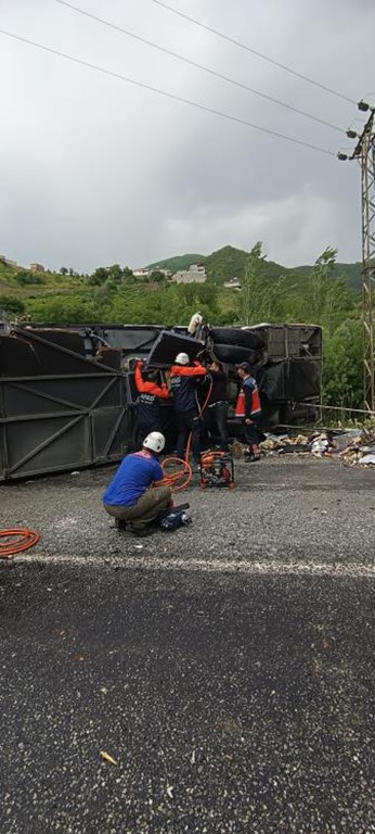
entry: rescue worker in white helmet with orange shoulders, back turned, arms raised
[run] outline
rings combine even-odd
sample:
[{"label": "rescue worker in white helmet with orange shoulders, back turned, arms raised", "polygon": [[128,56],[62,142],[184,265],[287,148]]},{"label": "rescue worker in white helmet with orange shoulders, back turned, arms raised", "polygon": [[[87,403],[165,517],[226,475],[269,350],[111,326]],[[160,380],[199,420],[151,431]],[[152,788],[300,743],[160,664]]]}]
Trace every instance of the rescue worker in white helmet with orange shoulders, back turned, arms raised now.
[{"label": "rescue worker in white helmet with orange shoulders, back turned, arms raised", "polygon": [[194,466],[201,465],[201,413],[196,401],[196,383],[207,374],[198,362],[190,363],[188,353],[178,353],[170,369],[173,406],[178,419],[177,456],[183,458],[189,434],[192,434]]}]

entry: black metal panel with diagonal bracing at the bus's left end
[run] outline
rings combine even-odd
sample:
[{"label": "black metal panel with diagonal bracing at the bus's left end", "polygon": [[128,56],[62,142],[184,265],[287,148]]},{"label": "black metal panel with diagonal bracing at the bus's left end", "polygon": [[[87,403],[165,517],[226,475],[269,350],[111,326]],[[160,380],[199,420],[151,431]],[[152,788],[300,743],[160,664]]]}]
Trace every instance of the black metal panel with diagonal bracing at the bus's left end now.
[{"label": "black metal panel with diagonal bracing at the bus's left end", "polygon": [[0,480],[117,460],[128,422],[124,375],[108,368],[0,377]]}]

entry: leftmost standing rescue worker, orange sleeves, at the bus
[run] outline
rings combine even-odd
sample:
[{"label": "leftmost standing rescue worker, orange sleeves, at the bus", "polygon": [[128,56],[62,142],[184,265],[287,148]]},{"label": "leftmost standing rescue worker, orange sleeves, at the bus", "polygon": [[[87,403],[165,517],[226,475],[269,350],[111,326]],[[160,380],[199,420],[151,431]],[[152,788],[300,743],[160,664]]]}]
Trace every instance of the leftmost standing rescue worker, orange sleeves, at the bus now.
[{"label": "leftmost standing rescue worker, orange sleeves, at the bus", "polygon": [[146,434],[151,431],[161,430],[161,415],[159,400],[168,400],[170,396],[169,389],[166,383],[157,384],[157,372],[147,375],[147,379],[144,379],[143,375],[143,359],[139,359],[135,366],[134,382],[139,397],[138,405],[138,424],[137,424],[137,440],[141,445]]}]

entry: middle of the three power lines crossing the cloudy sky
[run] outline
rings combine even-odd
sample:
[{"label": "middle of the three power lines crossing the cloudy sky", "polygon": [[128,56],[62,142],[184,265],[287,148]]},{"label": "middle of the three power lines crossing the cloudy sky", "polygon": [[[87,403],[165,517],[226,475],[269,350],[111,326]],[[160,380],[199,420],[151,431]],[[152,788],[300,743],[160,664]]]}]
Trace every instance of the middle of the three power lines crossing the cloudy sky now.
[{"label": "middle of the three power lines crossing the cloudy sky", "polygon": [[254,93],[254,96],[259,96],[262,99],[267,99],[267,101],[271,101],[273,104],[280,104],[282,108],[286,108],[287,110],[292,110],[294,113],[298,113],[300,116],[305,116],[306,118],[311,118],[313,122],[319,122],[319,124],[324,125],[325,127],[331,127],[333,130],[338,130],[340,134],[342,134],[342,128],[337,127],[337,125],[333,125],[331,122],[326,122],[323,118],[319,118],[319,116],[312,115],[312,113],[307,113],[303,110],[299,110],[298,108],[295,108],[293,104],[287,104],[284,101],[280,101],[279,99],[273,98],[272,96],[268,96],[266,92],[261,92],[260,90],[255,90],[253,87],[249,87],[246,84],[242,84],[241,81],[234,80],[234,78],[229,78],[227,75],[222,75],[221,73],[217,73],[216,70],[211,70],[209,66],[204,66],[203,64],[198,64],[196,61],[192,61],[189,58],[185,58],[184,55],[180,55],[177,52],[173,52],[171,49],[167,49],[165,47],[160,47],[159,43],[155,43],[152,40],[147,40],[146,38],[141,37],[141,35],[135,35],[133,31],[130,31],[129,29],[124,29],[121,26],[117,26],[115,23],[112,23],[111,21],[106,21],[103,17],[98,17],[96,14],[92,14],[91,12],[87,12],[83,9],[79,9],[77,5],[73,5],[73,3],[66,2],[66,0],[55,0],[56,3],[60,5],[66,5],[67,9],[72,9],[75,12],[78,12],[78,14],[82,14],[85,17],[90,17],[92,21],[96,21],[98,23],[102,23],[104,26],[107,26],[111,29],[115,29],[115,31],[119,31],[122,35],[127,35],[129,38],[134,38],[134,40],[140,41],[141,43],[145,43],[147,47],[152,47],[153,49],[157,49],[160,52],[165,52],[167,55],[171,55],[172,58],[176,58],[178,61],[182,61],[185,64],[190,64],[190,66],[194,66],[197,70],[203,70],[205,73],[209,73],[209,75],[214,75],[216,78],[220,78],[223,81],[228,81],[228,84],[232,84],[235,87],[240,87],[243,90],[246,90],[247,92]]}]

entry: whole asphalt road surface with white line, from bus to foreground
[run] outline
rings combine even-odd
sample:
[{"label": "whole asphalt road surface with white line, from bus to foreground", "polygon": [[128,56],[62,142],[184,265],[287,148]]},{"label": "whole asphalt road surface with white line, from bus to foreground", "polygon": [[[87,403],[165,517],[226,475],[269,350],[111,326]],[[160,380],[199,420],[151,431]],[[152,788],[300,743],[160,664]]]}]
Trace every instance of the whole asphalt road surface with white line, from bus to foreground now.
[{"label": "whole asphalt road surface with white line, from bus to foreground", "polygon": [[0,564],[1,834],[375,832],[375,473],[240,465],[146,540],[111,473],[0,488],[42,536]]}]

